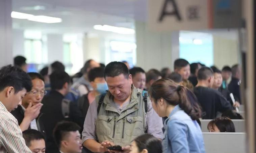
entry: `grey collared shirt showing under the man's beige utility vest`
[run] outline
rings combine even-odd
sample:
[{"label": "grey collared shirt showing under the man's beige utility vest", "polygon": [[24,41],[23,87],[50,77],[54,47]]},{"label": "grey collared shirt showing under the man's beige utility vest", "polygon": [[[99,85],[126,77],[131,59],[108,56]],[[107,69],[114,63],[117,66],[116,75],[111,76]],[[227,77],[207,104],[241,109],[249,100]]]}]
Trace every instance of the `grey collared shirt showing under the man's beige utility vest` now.
[{"label": "grey collared shirt showing under the man's beige utility vest", "polygon": [[[127,101],[123,104],[122,107],[120,107],[118,104],[113,103],[113,107],[117,108],[120,113],[126,106],[129,104],[130,101]],[[95,129],[95,122],[98,117],[98,112],[97,112],[98,105],[96,101],[93,101],[91,105],[89,106],[86,118],[85,118],[85,123],[84,123],[84,130],[82,131],[82,142],[85,142],[88,139],[93,139],[97,141],[97,136],[96,136],[96,129]],[[151,101],[148,101],[148,112],[147,112],[147,117],[146,117],[146,122],[148,126],[148,134],[152,134],[156,138],[163,139],[163,120],[161,117],[156,114],[154,109],[152,108],[152,103]]]}]

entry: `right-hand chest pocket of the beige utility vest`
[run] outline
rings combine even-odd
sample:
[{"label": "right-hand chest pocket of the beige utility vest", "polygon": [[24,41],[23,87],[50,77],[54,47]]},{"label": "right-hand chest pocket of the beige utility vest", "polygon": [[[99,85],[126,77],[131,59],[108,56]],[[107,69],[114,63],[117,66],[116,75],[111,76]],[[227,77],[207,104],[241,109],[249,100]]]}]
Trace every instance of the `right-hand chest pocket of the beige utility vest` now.
[{"label": "right-hand chest pocket of the beige utility vest", "polygon": [[144,134],[143,128],[143,118],[142,117],[130,117],[127,116],[127,124],[126,124],[126,135],[127,136],[140,136]]}]

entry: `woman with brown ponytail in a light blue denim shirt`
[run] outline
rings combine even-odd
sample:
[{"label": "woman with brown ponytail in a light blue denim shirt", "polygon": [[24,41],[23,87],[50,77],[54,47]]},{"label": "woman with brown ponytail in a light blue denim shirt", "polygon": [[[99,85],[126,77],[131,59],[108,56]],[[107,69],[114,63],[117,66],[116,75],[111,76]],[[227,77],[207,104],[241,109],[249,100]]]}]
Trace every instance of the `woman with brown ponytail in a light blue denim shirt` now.
[{"label": "woman with brown ponytail in a light blue denim shirt", "polygon": [[205,153],[201,118],[195,95],[170,79],[154,82],[149,89],[152,106],[165,120],[163,153]]}]

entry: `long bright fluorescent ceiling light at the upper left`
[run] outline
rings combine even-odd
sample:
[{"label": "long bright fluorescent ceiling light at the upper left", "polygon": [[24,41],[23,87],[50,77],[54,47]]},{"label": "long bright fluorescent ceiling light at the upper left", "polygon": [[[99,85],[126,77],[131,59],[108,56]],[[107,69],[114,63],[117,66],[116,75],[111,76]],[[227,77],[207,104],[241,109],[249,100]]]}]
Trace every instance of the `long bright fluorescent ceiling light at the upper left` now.
[{"label": "long bright fluorescent ceiling light at the upper left", "polygon": [[58,17],[48,17],[44,15],[32,15],[32,14],[26,14],[26,13],[20,13],[13,11],[11,13],[12,18],[16,19],[28,19],[29,21],[35,21],[35,22],[43,22],[43,23],[60,23],[62,22],[61,18]]}]

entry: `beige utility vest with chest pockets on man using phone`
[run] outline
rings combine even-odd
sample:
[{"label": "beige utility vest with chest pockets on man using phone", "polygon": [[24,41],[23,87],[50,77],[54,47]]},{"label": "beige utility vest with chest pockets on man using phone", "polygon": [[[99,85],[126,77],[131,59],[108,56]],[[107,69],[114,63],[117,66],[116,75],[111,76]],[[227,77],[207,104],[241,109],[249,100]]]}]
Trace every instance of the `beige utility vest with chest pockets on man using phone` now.
[{"label": "beige utility vest with chest pockets on man using phone", "polygon": [[[99,99],[100,97],[96,98],[97,103]],[[95,123],[98,141],[101,143],[109,140],[115,145],[129,145],[147,130],[142,90],[132,87],[130,103],[121,114],[113,107],[113,103],[113,95],[108,91]]]}]

